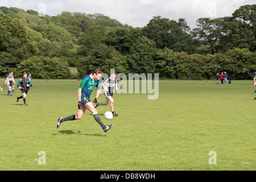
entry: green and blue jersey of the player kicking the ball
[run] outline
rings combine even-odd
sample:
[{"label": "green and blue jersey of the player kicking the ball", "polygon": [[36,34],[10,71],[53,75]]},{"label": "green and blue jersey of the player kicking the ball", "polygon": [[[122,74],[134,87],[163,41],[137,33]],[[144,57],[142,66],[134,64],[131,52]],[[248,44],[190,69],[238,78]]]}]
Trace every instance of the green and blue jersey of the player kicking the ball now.
[{"label": "green and blue jersey of the player kicking the ball", "polygon": [[87,98],[90,100],[90,94],[92,94],[92,91],[94,87],[96,86],[98,90],[101,89],[100,80],[94,81],[92,78],[92,75],[88,75],[84,78],[82,78],[81,83],[79,84],[79,88],[82,89],[82,98]]}]

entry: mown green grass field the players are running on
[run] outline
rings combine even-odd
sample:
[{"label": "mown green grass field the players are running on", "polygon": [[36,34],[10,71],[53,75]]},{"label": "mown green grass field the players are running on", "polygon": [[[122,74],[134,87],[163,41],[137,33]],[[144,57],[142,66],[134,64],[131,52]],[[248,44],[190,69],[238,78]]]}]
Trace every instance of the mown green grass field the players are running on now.
[{"label": "mown green grass field the players are running on", "polygon": [[[3,83],[4,80],[0,79]],[[28,106],[15,88],[0,92],[0,170],[172,171],[255,170],[252,81],[159,81],[158,100],[148,94],[115,94],[118,117],[104,118],[104,133],[86,111],[80,121],[58,117],[77,113],[77,80],[33,80]],[[96,92],[93,92],[94,98]],[[103,94],[98,99],[105,100]],[[46,164],[38,163],[39,151]],[[216,165],[210,165],[210,151]]]}]

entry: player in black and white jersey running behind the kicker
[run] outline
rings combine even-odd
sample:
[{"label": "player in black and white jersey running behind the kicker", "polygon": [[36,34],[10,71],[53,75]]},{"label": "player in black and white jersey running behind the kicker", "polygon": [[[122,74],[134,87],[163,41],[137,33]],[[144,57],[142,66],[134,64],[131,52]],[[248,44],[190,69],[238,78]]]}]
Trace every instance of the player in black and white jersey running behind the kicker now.
[{"label": "player in black and white jersey running behind the kicker", "polygon": [[110,109],[113,113],[113,116],[118,116],[117,113],[114,111],[114,100],[113,94],[117,92],[119,85],[118,81],[115,79],[117,75],[115,73],[111,73],[110,77],[102,82],[102,88],[104,89],[104,94],[106,96],[106,100],[104,102],[96,104],[94,107],[98,106],[106,106],[110,102]]}]

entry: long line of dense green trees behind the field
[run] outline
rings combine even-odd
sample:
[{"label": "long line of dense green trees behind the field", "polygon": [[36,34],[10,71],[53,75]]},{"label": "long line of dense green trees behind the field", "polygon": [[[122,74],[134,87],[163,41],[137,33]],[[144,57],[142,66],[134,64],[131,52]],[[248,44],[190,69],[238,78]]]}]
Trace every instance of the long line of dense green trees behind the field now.
[{"label": "long line of dense green trees behind the field", "polygon": [[63,12],[39,16],[34,10],[0,7],[0,76],[30,72],[33,78],[65,79],[69,67],[79,78],[95,68],[109,73],[159,73],[161,78],[195,80],[226,71],[251,79],[256,71],[256,5],[223,18],[154,16],[131,27],[102,14]]}]

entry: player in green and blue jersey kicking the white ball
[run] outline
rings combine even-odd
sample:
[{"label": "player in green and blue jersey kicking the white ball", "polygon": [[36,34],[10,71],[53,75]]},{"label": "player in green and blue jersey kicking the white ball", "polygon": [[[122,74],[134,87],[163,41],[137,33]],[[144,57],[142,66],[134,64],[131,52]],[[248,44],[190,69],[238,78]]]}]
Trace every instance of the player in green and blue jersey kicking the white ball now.
[{"label": "player in green and blue jersey kicking the white ball", "polygon": [[93,71],[93,73],[89,76],[85,76],[82,78],[81,83],[79,84],[79,89],[78,89],[78,108],[79,110],[77,111],[76,115],[70,115],[69,117],[66,118],[58,118],[57,122],[57,129],[61,125],[61,123],[65,121],[74,121],[77,119],[81,119],[82,115],[84,115],[85,110],[88,109],[92,114],[95,119],[95,121],[98,122],[98,124],[102,127],[103,131],[106,133],[108,130],[110,130],[113,126],[112,125],[104,125],[104,123],[101,121],[100,116],[98,115],[98,111],[95,109],[93,106],[92,102],[90,101],[90,94],[92,94],[93,89],[96,87],[97,92],[96,92],[96,98],[94,98],[94,102],[97,102],[98,96],[100,96],[101,92],[101,85],[100,85],[100,77],[102,76],[102,72],[100,69],[96,69]]}]

